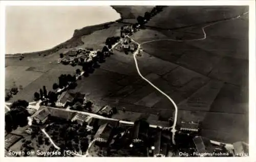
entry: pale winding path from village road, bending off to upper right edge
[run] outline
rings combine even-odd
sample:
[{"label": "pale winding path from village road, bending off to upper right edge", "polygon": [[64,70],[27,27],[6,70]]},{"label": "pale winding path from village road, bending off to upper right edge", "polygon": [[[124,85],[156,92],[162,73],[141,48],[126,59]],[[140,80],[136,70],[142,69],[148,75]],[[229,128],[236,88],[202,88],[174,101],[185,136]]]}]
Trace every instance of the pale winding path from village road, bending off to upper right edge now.
[{"label": "pale winding path from village road, bending off to upper right edge", "polygon": [[[242,15],[245,15],[249,12],[245,12],[243,13]],[[239,15],[237,17],[233,17],[233,18],[230,18],[230,19],[227,19],[227,20],[233,20],[233,19],[237,19],[237,18],[240,18],[242,15]],[[175,145],[175,132],[177,131],[175,128],[176,128],[176,124],[177,124],[177,117],[178,117],[178,107],[176,105],[176,103],[173,101],[172,98],[170,98],[168,95],[166,95],[161,89],[159,89],[157,86],[155,86],[153,83],[151,83],[149,80],[147,80],[145,77],[143,77],[140,73],[140,70],[139,70],[139,66],[138,66],[138,62],[137,62],[137,59],[136,59],[136,55],[139,53],[139,50],[140,50],[140,47],[142,44],[146,44],[146,43],[150,43],[150,42],[154,42],[154,41],[161,41],[161,40],[170,40],[170,41],[179,41],[179,42],[183,42],[183,41],[198,41],[198,40],[204,40],[206,39],[206,33],[205,33],[205,28],[207,27],[210,27],[212,25],[215,25],[215,24],[218,24],[220,22],[223,22],[223,21],[227,21],[227,20],[222,20],[222,21],[217,21],[217,22],[214,22],[212,24],[209,24],[209,25],[206,25],[204,27],[202,27],[202,31],[203,31],[203,34],[204,36],[202,38],[198,38],[198,39],[189,39],[189,40],[176,40],[176,39],[156,39],[156,40],[151,40],[151,41],[146,41],[146,42],[143,42],[141,44],[139,44],[138,42],[134,41],[131,37],[129,36],[126,36],[126,37],[129,37],[133,42],[137,43],[138,44],[138,48],[137,50],[133,53],[133,57],[134,57],[134,62],[135,62],[135,66],[136,66],[136,69],[137,69],[137,72],[139,74],[139,76],[145,80],[147,83],[149,83],[150,85],[152,85],[155,89],[157,89],[161,94],[163,94],[170,102],[172,102],[172,104],[174,105],[174,108],[175,108],[175,115],[174,115],[174,124],[172,126],[172,142],[173,144]]]}]

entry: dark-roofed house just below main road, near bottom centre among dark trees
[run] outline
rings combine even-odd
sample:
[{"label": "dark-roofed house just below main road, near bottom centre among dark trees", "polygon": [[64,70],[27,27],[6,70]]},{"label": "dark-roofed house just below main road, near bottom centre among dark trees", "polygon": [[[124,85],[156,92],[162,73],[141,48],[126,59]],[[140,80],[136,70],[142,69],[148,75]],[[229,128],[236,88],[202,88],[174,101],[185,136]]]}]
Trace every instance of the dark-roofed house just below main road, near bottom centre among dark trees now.
[{"label": "dark-roofed house just below main road, near bottom centre among dark trees", "polygon": [[149,127],[150,124],[144,120],[135,121],[132,131],[133,143],[143,143],[147,138]]}]

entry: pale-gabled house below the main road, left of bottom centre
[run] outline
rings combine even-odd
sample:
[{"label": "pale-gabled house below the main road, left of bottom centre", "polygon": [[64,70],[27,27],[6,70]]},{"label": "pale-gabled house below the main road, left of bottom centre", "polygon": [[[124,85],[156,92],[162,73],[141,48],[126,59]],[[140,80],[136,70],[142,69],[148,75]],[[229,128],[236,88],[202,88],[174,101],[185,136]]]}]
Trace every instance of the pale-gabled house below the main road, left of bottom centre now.
[{"label": "pale-gabled house below the main road, left of bottom centre", "polygon": [[113,126],[109,123],[105,123],[99,127],[96,134],[94,135],[94,139],[98,143],[108,144],[113,137]]}]

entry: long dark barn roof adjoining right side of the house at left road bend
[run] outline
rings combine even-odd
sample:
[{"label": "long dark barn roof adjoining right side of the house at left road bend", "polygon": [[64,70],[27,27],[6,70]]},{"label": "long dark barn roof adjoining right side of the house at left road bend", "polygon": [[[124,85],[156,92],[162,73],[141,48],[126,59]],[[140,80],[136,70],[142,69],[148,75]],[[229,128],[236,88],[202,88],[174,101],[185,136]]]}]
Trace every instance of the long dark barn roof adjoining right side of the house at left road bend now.
[{"label": "long dark barn roof adjoining right side of the house at left road bend", "polygon": [[67,120],[71,120],[72,118],[74,118],[74,116],[76,114],[75,112],[66,111],[66,110],[59,109],[59,108],[52,108],[52,107],[49,107],[49,111],[51,113],[51,116],[62,118],[62,119],[67,119]]}]

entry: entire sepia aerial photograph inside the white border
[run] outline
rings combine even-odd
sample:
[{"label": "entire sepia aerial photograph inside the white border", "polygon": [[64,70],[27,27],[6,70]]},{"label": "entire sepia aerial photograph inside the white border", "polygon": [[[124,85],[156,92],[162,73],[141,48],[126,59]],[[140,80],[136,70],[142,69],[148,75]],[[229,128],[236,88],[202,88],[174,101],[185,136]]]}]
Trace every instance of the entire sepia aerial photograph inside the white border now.
[{"label": "entire sepia aerial photograph inside the white border", "polygon": [[6,6],[5,28],[5,157],[249,156],[249,6]]}]

